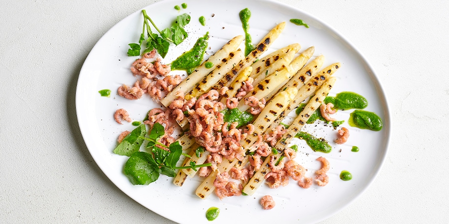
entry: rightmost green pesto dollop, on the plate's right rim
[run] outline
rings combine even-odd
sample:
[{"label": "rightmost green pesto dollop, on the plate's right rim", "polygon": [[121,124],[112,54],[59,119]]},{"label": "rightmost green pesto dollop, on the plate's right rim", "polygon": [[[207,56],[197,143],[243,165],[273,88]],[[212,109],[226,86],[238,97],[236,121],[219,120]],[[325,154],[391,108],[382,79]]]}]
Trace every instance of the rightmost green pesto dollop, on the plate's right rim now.
[{"label": "rightmost green pesto dollop, on the plate's right rim", "polygon": [[374,112],[355,110],[348,120],[349,125],[360,129],[370,129],[380,131],[382,129],[382,119]]}]

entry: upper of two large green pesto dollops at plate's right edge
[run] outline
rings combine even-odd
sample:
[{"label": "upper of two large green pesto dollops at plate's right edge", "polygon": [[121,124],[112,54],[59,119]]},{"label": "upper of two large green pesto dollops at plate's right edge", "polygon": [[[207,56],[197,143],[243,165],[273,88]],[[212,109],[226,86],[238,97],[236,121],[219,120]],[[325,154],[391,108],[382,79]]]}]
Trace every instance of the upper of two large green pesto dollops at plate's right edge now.
[{"label": "upper of two large green pesto dollops at plate's right edge", "polygon": [[332,103],[333,109],[348,110],[348,109],[364,109],[368,106],[368,101],[365,97],[355,92],[341,92],[336,96],[327,96],[324,103]]}]

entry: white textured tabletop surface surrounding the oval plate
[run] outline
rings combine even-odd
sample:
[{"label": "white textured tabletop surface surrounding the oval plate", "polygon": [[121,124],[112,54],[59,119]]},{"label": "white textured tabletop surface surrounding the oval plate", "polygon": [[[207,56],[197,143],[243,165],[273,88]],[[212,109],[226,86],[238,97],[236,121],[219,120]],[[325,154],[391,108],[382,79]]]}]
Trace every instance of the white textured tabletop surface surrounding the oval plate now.
[{"label": "white textured tabletop surface surrounding the oval plate", "polygon": [[[1,1],[0,223],[172,223],[102,173],[75,112],[78,75],[94,44],[153,2]],[[392,115],[378,177],[322,223],[446,223],[449,1],[281,2],[318,17],[366,56]]]}]

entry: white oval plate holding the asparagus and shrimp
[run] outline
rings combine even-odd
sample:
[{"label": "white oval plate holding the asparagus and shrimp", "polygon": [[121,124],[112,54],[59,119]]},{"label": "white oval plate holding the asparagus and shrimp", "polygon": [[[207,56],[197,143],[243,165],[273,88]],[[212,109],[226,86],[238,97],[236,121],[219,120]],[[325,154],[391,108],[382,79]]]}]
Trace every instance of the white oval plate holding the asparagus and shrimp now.
[{"label": "white oval plate holding the asparagus and shrimp", "polygon": [[[174,9],[183,2],[188,7]],[[128,57],[128,43],[137,42],[142,30],[143,17],[137,11],[111,28],[96,43],[81,69],[76,90],[76,111],[81,133],[92,157],[106,176],[125,194],[151,209],[152,211],[178,223],[205,223],[206,210],[211,206],[220,208],[219,217],[214,223],[225,223],[238,217],[239,222],[262,220],[264,223],[288,221],[295,223],[315,223],[337,213],[354,198],[362,194],[373,181],[381,168],[387,151],[391,124],[387,102],[382,87],[368,62],[355,48],[338,32],[329,28],[315,17],[296,8],[269,0],[164,0],[149,5],[145,9],[160,29],[170,25],[177,15],[189,13],[192,17],[187,26],[189,37],[181,45],[170,48],[164,58],[170,63],[182,52],[189,50],[196,39],[207,31],[210,34],[207,55],[218,50],[229,39],[243,35],[242,25],[238,16],[240,10],[249,8],[252,12],[250,33],[253,42],[257,43],[276,24],[287,21],[287,26],[280,37],[269,49],[300,43],[302,50],[315,46],[315,56],[326,57],[323,65],[341,62],[342,66],[334,76],[337,77],[335,87],[329,95],[341,91],[353,91],[363,95],[368,100],[367,111],[376,112],[384,122],[384,128],[379,132],[352,128],[347,122],[343,126],[350,129],[351,137],[343,145],[332,143],[336,131],[319,123],[317,126],[307,125],[303,130],[323,137],[333,146],[332,152],[323,154],[314,152],[298,140],[298,163],[308,168],[306,176],[314,176],[314,171],[321,167],[316,161],[319,156],[326,157],[331,164],[328,172],[329,183],[325,187],[314,184],[309,189],[301,189],[290,179],[287,187],[269,189],[262,186],[253,196],[228,197],[219,200],[215,195],[200,199],[194,191],[200,180],[194,178],[186,181],[183,187],[172,184],[172,178],[161,176],[148,186],[133,186],[123,174],[123,168],[128,157],[115,155],[112,150],[116,146],[119,134],[132,130],[128,122],[117,124],[113,119],[114,112],[125,108],[133,120],[141,121],[146,112],[160,107],[144,97],[139,100],[127,100],[117,95],[117,88],[122,84],[132,85],[136,78],[132,76],[129,67],[137,57]],[[212,17],[212,15],[214,16]],[[198,18],[206,18],[206,26],[201,26]],[[296,26],[289,19],[302,19],[310,28]],[[243,47],[243,45],[242,45]],[[180,74],[180,71],[174,71]],[[110,89],[110,98],[101,97],[98,90]],[[337,119],[348,120],[350,112],[339,111],[334,116]],[[360,148],[352,152],[351,147]],[[349,170],[353,174],[351,181],[342,181],[339,174]],[[259,199],[271,195],[276,201],[276,207],[262,210]]]}]

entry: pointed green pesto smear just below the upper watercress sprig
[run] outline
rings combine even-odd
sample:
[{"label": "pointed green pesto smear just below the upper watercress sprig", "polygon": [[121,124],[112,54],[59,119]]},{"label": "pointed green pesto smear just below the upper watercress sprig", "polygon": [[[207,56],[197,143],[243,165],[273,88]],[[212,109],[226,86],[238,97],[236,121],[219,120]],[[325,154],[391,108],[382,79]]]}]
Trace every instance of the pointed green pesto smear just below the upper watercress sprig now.
[{"label": "pointed green pesto smear just below the upper watercress sprig", "polygon": [[191,74],[192,69],[200,65],[203,60],[204,52],[207,49],[207,40],[209,40],[209,32],[207,32],[203,37],[198,38],[190,51],[184,52],[184,54],[171,62],[171,69],[186,70],[189,74]]}]

